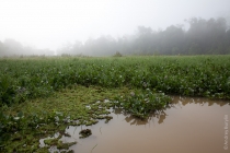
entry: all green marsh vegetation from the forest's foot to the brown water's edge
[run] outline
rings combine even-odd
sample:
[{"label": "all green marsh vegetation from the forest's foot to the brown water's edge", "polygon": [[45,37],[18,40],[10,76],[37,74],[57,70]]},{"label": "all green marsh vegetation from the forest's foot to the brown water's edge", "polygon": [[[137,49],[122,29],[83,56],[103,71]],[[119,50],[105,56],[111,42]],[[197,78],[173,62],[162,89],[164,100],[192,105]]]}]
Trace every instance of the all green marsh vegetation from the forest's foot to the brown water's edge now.
[{"label": "all green marsh vegetation from the forest's foot to the brown water's edge", "polygon": [[47,151],[41,138],[110,120],[102,115],[112,106],[145,119],[168,106],[166,95],[230,99],[230,56],[24,57],[0,66],[0,152]]}]

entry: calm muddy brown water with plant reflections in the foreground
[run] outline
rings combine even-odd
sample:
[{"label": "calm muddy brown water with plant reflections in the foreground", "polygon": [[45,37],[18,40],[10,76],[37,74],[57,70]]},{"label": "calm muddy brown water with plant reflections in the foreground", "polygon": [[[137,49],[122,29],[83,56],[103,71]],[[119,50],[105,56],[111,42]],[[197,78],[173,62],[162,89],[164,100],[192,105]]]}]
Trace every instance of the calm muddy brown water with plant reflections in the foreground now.
[{"label": "calm muddy brown water with plant reflections in the foreground", "polygon": [[[71,138],[62,140],[78,141],[70,148],[77,153],[229,152],[229,144],[228,150],[223,149],[229,102],[174,97],[173,103],[174,107],[152,115],[147,121],[113,110],[108,123],[102,120],[90,127],[69,127]],[[92,130],[92,136],[79,139],[79,131],[85,128]]]}]

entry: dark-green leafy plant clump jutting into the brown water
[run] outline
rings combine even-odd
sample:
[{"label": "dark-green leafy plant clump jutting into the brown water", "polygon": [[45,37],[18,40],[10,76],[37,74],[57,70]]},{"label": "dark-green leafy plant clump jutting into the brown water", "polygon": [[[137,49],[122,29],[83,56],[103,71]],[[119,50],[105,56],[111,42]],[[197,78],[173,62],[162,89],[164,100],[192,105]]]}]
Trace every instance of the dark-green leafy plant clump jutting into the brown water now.
[{"label": "dark-green leafy plant clump jutting into the brown water", "polygon": [[146,119],[150,113],[166,108],[170,104],[170,97],[164,93],[152,93],[149,89],[116,97],[116,101],[115,107],[123,108],[141,119]]}]

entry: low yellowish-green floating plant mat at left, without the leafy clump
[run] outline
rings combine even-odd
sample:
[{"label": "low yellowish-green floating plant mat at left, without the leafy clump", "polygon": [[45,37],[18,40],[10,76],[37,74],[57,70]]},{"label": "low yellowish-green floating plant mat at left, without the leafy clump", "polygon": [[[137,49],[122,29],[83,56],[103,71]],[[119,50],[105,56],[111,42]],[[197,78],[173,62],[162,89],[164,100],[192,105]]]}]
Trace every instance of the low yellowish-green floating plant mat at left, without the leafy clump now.
[{"label": "low yellowish-green floating plant mat at left, without the leafy clump", "polygon": [[[4,106],[1,108],[2,113],[16,117],[10,118],[11,120],[8,121],[9,117],[3,116],[5,119],[3,118],[2,121],[8,121],[5,128],[0,122],[0,126],[2,126],[0,128],[9,128],[7,130],[12,131],[5,134],[9,138],[8,141],[0,145],[3,146],[3,149],[0,148],[0,153],[47,152],[47,149],[58,144],[58,140],[48,142],[44,146],[39,144],[39,139],[53,137],[55,133],[61,133],[62,136],[68,125],[96,123],[97,117],[101,117],[100,115],[110,113],[106,110],[105,103],[103,103],[101,109],[99,109],[97,105],[93,107],[96,102],[103,102],[117,95],[122,96],[130,91],[127,87],[103,89],[100,86],[84,87],[77,85],[71,90],[61,90],[49,98],[36,98],[12,107]],[[95,114],[91,114],[88,106],[91,106],[94,109],[92,111]],[[78,122],[70,122],[70,119],[78,120]]]}]

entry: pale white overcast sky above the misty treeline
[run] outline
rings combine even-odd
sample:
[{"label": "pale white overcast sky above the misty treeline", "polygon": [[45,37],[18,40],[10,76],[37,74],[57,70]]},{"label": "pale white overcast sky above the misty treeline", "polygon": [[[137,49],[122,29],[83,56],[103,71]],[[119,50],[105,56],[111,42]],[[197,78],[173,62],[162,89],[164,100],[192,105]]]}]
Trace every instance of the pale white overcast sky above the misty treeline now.
[{"label": "pale white overcast sky above the misty treeline", "polygon": [[0,0],[0,40],[57,49],[101,35],[158,31],[191,17],[230,17],[230,0]]}]

